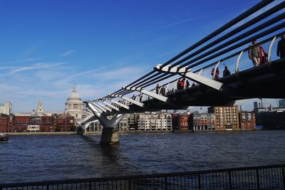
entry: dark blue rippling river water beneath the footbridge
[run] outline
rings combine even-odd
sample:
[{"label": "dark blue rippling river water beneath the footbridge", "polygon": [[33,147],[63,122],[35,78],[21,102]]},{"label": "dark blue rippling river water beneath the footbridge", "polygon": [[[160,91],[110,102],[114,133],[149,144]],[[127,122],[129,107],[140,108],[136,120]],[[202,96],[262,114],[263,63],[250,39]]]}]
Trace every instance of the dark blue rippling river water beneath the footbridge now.
[{"label": "dark blue rippling river water beneath the footbridge", "polygon": [[0,184],[285,164],[285,131],[11,136],[0,143]]}]

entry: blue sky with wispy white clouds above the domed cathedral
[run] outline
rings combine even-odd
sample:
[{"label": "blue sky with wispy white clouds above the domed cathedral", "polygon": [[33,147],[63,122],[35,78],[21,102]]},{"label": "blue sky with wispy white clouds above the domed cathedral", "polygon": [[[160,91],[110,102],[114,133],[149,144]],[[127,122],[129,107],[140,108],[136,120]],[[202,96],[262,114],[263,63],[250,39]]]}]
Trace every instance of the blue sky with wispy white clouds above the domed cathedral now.
[{"label": "blue sky with wispy white clouds above the domed cathedral", "polygon": [[113,93],[258,2],[0,1],[0,102],[63,111],[75,81],[83,100]]}]

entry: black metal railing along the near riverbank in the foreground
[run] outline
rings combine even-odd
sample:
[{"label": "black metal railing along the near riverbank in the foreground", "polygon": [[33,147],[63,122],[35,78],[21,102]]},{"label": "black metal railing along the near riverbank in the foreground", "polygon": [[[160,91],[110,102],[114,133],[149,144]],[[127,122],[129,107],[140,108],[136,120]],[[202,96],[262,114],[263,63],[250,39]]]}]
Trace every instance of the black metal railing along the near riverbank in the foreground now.
[{"label": "black metal railing along the near riverbank in the foreground", "polygon": [[285,189],[285,164],[169,174],[0,184],[0,189]]}]

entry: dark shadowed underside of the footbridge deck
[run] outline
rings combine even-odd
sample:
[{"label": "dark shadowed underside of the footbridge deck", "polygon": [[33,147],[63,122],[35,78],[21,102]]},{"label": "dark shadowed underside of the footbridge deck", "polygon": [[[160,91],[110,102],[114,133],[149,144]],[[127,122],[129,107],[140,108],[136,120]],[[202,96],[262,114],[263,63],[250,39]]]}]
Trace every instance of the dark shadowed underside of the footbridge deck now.
[{"label": "dark shadowed underside of the footbridge deck", "polygon": [[[130,110],[120,109],[120,113],[180,110],[187,109],[188,106],[226,106],[233,105],[236,100],[254,97],[284,98],[285,59],[243,70],[218,81],[224,83],[227,90],[216,90],[199,84],[193,88],[167,94],[167,102],[157,99],[146,100],[143,102],[143,107],[130,105]],[[104,115],[114,114],[116,112],[104,113]]]}]

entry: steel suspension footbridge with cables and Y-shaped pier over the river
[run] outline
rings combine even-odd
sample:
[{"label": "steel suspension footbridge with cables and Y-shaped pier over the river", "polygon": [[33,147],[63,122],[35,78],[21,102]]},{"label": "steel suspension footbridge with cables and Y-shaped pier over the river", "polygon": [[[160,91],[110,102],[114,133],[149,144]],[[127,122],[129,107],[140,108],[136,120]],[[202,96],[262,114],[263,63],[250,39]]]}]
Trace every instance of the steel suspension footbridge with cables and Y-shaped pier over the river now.
[{"label": "steel suspension footbridge with cables and Y-shaped pier over the river", "polygon": [[[84,131],[98,120],[103,125],[101,143],[110,144],[119,141],[115,127],[126,113],[284,98],[285,1],[264,9],[272,2],[259,2],[121,89],[85,100],[86,114],[78,129]],[[254,49],[264,50],[259,64],[250,58]],[[229,72],[222,75],[225,68]]]}]

